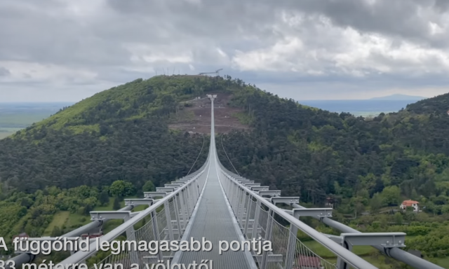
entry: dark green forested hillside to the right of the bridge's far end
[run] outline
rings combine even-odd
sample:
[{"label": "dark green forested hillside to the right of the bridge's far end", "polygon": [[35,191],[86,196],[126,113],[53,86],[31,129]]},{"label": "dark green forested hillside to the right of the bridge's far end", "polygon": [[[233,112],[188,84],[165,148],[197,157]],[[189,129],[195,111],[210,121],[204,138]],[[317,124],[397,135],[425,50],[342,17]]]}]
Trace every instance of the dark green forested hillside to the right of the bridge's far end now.
[{"label": "dark green forested hillside to the right of the bridge's far end", "polygon": [[445,199],[449,116],[442,106],[417,112],[418,104],[429,109],[443,97],[398,113],[356,118],[259,90],[239,92],[233,102],[245,107],[255,129],[222,139],[239,172],[286,195],[301,195],[304,202],[321,204],[329,194],[369,199],[392,186],[408,198]]}]

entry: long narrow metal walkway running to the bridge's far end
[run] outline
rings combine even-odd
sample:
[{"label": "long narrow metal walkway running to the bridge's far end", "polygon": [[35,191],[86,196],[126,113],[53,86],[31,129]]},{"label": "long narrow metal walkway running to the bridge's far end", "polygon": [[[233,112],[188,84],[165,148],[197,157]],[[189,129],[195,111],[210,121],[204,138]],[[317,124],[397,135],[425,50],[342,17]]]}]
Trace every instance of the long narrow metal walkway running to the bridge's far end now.
[{"label": "long narrow metal walkway running to the bridge's far end", "polygon": [[[202,237],[213,244],[211,251],[179,251],[175,254],[173,263],[191,264],[193,261],[212,260],[213,268],[257,268],[253,256],[248,251],[225,251],[219,254],[220,241],[243,241],[239,224],[237,223],[232,208],[225,198],[225,191],[220,184],[217,153],[215,149],[215,131],[213,123],[212,102],[212,127],[210,139],[210,160],[206,173],[206,185],[203,188],[199,202],[194,209],[192,219],[189,221],[182,240],[193,237],[201,242]],[[179,257],[179,260],[178,260]]]}]

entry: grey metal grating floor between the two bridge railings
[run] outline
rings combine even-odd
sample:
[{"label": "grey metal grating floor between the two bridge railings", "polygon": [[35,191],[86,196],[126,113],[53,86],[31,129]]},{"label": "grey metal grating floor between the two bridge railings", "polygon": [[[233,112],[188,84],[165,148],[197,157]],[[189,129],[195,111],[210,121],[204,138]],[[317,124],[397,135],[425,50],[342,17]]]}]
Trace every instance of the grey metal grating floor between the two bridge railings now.
[{"label": "grey metal grating floor between the two bridge railings", "polygon": [[[215,152],[213,153],[215,156]],[[219,254],[219,241],[226,240],[231,242],[233,240],[241,241],[236,232],[236,228],[232,219],[232,212],[225,201],[225,194],[222,192],[220,181],[217,175],[217,165],[215,161],[210,161],[210,170],[208,172],[208,180],[204,187],[203,196],[199,201],[196,216],[192,219],[192,228],[187,235],[188,239],[193,237],[195,240],[201,242],[204,237],[213,244],[211,251],[185,251],[180,255],[180,260],[177,263],[184,263],[187,265],[196,261],[201,263],[201,260],[212,260],[213,268],[227,269],[227,268],[251,268],[248,258],[243,251],[225,251],[222,255]]]}]

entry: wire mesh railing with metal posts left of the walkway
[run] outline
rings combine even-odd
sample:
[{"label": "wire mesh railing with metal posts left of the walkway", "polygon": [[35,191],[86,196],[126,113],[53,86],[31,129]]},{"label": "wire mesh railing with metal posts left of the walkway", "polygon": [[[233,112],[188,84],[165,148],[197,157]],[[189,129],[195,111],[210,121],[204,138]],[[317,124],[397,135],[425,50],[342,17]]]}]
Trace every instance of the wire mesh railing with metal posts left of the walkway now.
[{"label": "wire mesh railing with metal posts left of the walkway", "polygon": [[[100,244],[113,240],[119,242],[118,244],[121,244],[120,251],[114,253],[112,247],[112,250],[109,251],[98,251],[95,243],[92,243],[89,251],[79,251],[66,258],[60,265],[71,265],[84,261],[88,268],[95,268],[95,265],[97,268],[101,268],[100,266],[105,264],[121,264],[123,269],[126,269],[130,268],[133,263],[143,266],[144,264],[158,263],[160,260],[173,256],[171,251],[163,249],[152,251],[152,246],[160,247],[158,242],[163,240],[168,242],[180,240],[199,199],[200,190],[205,184],[206,176],[203,175],[203,172],[206,164],[201,167],[201,170],[177,181],[182,184],[173,188],[172,192],[163,195],[163,198],[153,200],[147,209],[133,215],[128,212],[130,216],[125,218],[123,224],[100,237]],[[109,212],[100,212],[106,217],[107,213]],[[134,226],[138,223],[142,226],[135,230]],[[146,244],[145,251],[140,251],[138,244]],[[65,268],[69,268],[69,266]]]}]

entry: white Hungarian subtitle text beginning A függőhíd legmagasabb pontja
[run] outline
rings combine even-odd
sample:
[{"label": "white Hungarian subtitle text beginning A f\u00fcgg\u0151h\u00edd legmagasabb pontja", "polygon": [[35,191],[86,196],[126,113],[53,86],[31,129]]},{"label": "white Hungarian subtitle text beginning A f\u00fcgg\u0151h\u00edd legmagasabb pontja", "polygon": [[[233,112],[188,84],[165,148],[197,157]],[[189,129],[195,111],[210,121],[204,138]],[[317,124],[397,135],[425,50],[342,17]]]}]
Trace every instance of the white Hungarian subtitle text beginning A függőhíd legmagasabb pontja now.
[{"label": "white Hungarian subtitle text beginning A f\u00fcgg\u0151h\u00edd legmagasabb pontja", "polygon": [[[34,238],[35,239],[35,238]],[[163,252],[177,252],[177,251],[213,251],[215,246],[204,237],[201,240],[160,240],[160,241],[135,241],[135,240],[113,240],[111,242],[101,240],[100,237],[95,240],[81,237],[55,237],[39,238],[39,240],[28,239],[27,237],[15,237],[13,240],[13,248],[16,253],[27,253],[32,255],[49,255],[53,251],[110,251],[112,255],[126,254],[129,256],[130,264],[124,267],[121,263],[100,263],[93,264],[94,269],[212,269],[212,260],[192,261],[189,264],[175,263],[172,259],[156,258]],[[4,238],[0,237],[0,250],[8,251],[8,246]],[[133,252],[145,252],[153,256],[152,261],[135,261],[133,259]],[[227,251],[251,251],[256,255],[261,255],[265,251],[272,251],[272,242],[269,240],[261,240],[260,238],[253,238],[252,240],[243,241],[227,241],[220,240],[218,242],[218,254],[223,255]],[[139,255],[140,256],[140,255]],[[136,257],[136,256],[134,256]],[[162,256],[163,257],[163,256]],[[133,263],[135,262],[135,263]],[[142,268],[143,266],[143,268]],[[86,263],[54,263],[53,261],[46,261],[39,265],[36,263],[23,263],[22,269],[88,269]],[[0,260],[0,269],[16,269],[15,261],[9,259],[7,261]]]}]

